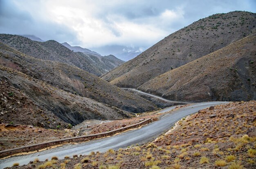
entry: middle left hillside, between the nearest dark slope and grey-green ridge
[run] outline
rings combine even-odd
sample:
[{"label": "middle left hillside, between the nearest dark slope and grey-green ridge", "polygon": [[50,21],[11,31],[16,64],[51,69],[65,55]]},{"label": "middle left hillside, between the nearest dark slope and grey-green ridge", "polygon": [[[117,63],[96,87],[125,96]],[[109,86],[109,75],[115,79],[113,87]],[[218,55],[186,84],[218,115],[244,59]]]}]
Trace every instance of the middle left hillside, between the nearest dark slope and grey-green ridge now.
[{"label": "middle left hillside, between the nearest dark slope and grey-green ridge", "polygon": [[130,112],[155,110],[151,102],[68,64],[40,60],[0,43],[0,64],[81,97]]}]

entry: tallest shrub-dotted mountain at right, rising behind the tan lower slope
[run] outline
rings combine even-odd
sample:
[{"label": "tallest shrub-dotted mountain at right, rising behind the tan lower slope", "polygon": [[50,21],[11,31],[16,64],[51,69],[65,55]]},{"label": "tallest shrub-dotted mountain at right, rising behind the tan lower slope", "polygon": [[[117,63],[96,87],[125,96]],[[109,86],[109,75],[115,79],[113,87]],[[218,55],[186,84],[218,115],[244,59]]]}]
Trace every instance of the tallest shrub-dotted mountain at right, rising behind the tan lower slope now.
[{"label": "tallest shrub-dotted mountain at right, rising behind the tan lower slope", "polygon": [[167,36],[136,58],[104,74],[119,87],[145,82],[256,32],[256,13],[234,11],[200,19]]}]

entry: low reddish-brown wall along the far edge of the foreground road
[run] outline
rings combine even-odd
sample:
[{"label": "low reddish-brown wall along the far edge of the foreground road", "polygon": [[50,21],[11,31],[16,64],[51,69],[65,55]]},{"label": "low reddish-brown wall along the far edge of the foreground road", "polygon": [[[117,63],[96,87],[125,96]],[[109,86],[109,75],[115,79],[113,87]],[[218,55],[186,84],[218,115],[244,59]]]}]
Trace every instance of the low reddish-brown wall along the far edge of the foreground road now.
[{"label": "low reddish-brown wall along the far edge of the foreground road", "polygon": [[111,131],[104,132],[104,133],[91,134],[88,136],[79,136],[79,137],[72,137],[72,138],[63,138],[60,140],[52,140],[52,141],[42,142],[42,143],[38,143],[38,144],[34,144],[34,145],[27,145],[27,146],[17,147],[17,148],[13,148],[13,149],[2,150],[2,151],[0,151],[0,158],[10,156],[10,155],[13,155],[16,153],[36,151],[39,149],[44,149],[46,147],[51,147],[54,145],[61,145],[63,143],[68,143],[68,142],[85,142],[85,141],[92,140],[95,138],[111,136],[115,133],[119,133],[122,131],[126,131],[128,129],[133,129],[133,128],[139,127],[141,125],[145,125],[151,121],[152,121],[152,119],[148,118],[148,119],[138,122],[134,125],[129,125],[129,126],[126,126],[126,127],[120,128],[120,129],[115,129],[115,130],[111,130]]}]

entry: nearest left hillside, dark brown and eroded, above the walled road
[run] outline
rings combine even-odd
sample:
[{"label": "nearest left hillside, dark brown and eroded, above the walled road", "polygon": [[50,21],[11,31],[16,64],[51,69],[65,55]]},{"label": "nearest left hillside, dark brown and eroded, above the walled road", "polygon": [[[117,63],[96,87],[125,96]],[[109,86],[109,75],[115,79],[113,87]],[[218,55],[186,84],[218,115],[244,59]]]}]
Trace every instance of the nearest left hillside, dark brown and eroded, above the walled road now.
[{"label": "nearest left hillside, dark brown and eroded, above the walled road", "polygon": [[0,65],[2,123],[45,128],[88,119],[127,118],[130,113],[75,95]]}]

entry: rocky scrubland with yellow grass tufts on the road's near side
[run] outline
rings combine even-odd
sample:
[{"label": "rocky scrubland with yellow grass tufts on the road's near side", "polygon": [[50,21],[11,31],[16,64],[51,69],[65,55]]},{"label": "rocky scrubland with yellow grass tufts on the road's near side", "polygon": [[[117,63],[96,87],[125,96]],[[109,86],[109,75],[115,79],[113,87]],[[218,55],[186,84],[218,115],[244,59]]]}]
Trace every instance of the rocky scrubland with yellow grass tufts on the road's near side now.
[{"label": "rocky scrubland with yellow grass tufts on the road's near side", "polygon": [[[215,115],[209,117],[211,115]],[[53,157],[27,167],[60,169],[189,169],[256,167],[256,101],[200,110],[153,143],[88,156]],[[17,165],[17,164],[16,164]],[[12,167],[17,168],[17,167]]]}]

